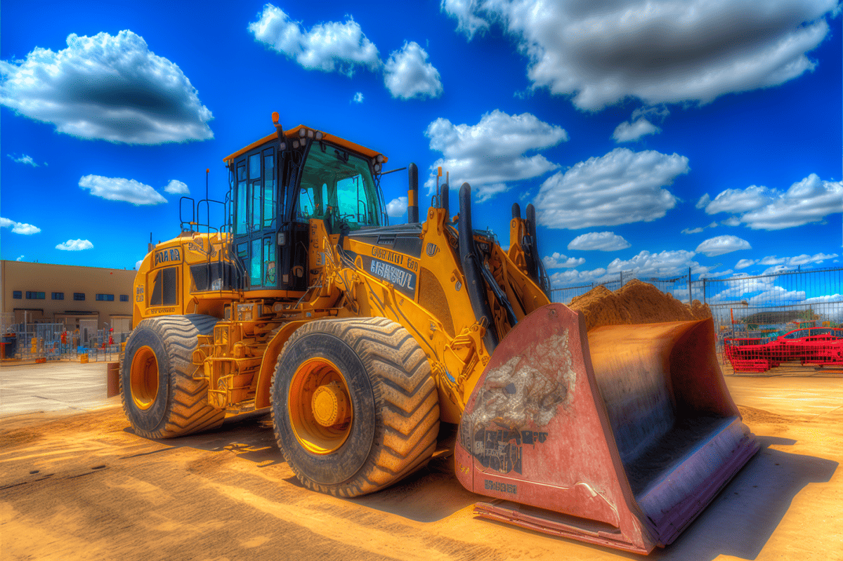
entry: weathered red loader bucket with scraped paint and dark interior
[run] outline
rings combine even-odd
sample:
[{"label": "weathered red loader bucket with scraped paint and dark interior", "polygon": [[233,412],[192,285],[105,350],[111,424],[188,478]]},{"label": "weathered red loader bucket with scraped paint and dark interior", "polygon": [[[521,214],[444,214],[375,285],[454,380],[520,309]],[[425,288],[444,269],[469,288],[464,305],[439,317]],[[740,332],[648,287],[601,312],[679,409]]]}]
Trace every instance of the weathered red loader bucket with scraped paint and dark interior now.
[{"label": "weathered red loader bucket with scraped paint and dark interior", "polygon": [[497,346],[459,424],[475,514],[650,553],[758,451],[729,396],[711,319],[586,332],[562,304]]}]

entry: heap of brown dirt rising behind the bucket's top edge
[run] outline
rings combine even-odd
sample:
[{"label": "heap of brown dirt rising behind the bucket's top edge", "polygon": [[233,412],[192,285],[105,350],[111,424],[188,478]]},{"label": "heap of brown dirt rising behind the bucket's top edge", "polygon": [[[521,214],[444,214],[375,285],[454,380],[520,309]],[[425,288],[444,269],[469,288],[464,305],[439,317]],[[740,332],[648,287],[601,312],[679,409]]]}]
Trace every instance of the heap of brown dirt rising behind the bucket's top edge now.
[{"label": "heap of brown dirt rising behind the bucket's top edge", "polygon": [[589,331],[602,325],[711,318],[707,304],[695,300],[689,306],[641,280],[631,280],[615,292],[605,286],[595,286],[583,296],[575,297],[568,307],[585,315]]}]

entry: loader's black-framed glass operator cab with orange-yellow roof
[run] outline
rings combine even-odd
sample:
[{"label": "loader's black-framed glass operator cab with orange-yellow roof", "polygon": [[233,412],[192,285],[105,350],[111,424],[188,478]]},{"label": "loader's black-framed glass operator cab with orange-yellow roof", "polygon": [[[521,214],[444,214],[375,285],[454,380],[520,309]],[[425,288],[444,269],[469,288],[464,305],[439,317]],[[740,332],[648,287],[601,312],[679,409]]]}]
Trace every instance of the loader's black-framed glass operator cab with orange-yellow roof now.
[{"label": "loader's black-framed glass operator cab with orange-yellow roof", "polygon": [[[245,270],[244,290],[308,289],[311,220],[340,233],[388,222],[379,172],[386,158],[337,136],[297,126],[225,158],[232,247]],[[296,294],[298,293],[298,294]]]}]

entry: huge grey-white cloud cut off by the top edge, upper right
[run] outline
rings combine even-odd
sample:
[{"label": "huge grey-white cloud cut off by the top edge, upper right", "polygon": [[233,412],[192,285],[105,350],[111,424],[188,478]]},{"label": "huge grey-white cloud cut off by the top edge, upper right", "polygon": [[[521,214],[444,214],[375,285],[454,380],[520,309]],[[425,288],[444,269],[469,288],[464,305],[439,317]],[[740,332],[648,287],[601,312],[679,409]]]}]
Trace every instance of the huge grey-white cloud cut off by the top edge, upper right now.
[{"label": "huge grey-white cloud cut off by the top edge, upper right", "polygon": [[711,102],[786,83],[816,62],[837,0],[445,0],[469,37],[499,23],[529,59],[534,88],[599,110],[627,97],[647,104]]}]

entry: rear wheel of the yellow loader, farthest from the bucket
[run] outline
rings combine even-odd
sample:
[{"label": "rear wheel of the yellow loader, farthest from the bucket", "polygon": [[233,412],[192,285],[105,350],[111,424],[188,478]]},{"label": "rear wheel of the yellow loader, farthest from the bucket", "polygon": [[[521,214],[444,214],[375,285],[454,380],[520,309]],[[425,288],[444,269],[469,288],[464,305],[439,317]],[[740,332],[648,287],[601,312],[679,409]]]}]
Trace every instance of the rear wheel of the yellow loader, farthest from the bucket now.
[{"label": "rear wheel of the yellow loader, farthest from the bucket", "polygon": [[121,400],[138,435],[171,438],[222,425],[225,411],[207,403],[207,382],[192,364],[197,335],[211,334],[217,318],[200,314],[148,318],[126,341]]}]

